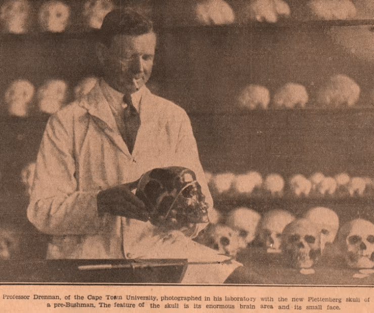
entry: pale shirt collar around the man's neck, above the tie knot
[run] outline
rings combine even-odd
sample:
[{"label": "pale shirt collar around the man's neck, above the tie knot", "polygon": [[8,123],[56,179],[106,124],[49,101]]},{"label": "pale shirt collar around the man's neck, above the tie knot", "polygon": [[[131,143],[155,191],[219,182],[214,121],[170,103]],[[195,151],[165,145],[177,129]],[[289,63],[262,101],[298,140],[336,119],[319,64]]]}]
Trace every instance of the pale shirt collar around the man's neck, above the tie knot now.
[{"label": "pale shirt collar around the man's neck, above the tie knot", "polygon": [[[123,111],[123,109],[126,107],[126,105],[123,103],[124,94],[109,86],[103,78],[100,79],[100,87],[111,109],[116,112]],[[146,92],[146,90],[147,87],[143,85],[139,90],[135,91],[134,93],[131,93],[132,105],[134,106],[137,112],[140,112],[142,96]]]}]

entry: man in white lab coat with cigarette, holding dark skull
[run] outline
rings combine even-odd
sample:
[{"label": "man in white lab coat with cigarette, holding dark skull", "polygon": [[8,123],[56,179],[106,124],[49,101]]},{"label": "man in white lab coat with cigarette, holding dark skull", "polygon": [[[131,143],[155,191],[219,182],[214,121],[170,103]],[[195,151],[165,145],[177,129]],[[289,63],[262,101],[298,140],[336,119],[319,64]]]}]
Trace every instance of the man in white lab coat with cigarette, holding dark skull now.
[{"label": "man in white lab coat with cigarette, holding dark skull", "polygon": [[[193,170],[213,206],[188,116],[145,85],[155,46],[149,20],[132,10],[109,13],[96,50],[103,78],[46,125],[28,218],[53,235],[49,258],[189,258],[203,263],[227,259],[191,240],[205,224],[165,231],[126,218],[128,210],[145,209],[130,191],[136,187],[131,182],[154,168]],[[98,211],[98,193],[113,196],[123,211]],[[183,282],[222,283],[239,265],[189,266]]]}]

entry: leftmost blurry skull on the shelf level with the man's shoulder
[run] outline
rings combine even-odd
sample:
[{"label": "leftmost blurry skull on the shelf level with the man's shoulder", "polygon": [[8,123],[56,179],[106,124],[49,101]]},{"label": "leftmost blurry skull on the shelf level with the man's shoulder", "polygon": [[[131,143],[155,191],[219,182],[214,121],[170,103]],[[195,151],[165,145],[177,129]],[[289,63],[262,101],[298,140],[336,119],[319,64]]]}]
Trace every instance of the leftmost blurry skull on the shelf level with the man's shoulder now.
[{"label": "leftmost blurry skull on the shelf level with the man's shoulder", "polygon": [[19,79],[12,82],[4,96],[10,115],[25,117],[29,113],[29,105],[35,93],[34,85],[28,80]]}]

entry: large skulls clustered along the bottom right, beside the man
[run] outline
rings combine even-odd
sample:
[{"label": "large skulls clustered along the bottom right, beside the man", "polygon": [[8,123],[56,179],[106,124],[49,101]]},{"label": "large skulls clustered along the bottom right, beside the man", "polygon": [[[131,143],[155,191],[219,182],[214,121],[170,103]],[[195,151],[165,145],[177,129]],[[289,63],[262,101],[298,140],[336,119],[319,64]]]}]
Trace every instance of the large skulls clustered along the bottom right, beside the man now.
[{"label": "large skulls clustered along the bottom right, beside the man", "polygon": [[265,247],[267,253],[282,253],[295,268],[311,268],[321,256],[337,255],[350,268],[374,267],[374,224],[354,219],[339,229],[338,215],[327,207],[310,208],[300,218],[285,210],[270,210],[261,217],[239,207],[216,222],[196,240],[232,257],[252,243]]}]

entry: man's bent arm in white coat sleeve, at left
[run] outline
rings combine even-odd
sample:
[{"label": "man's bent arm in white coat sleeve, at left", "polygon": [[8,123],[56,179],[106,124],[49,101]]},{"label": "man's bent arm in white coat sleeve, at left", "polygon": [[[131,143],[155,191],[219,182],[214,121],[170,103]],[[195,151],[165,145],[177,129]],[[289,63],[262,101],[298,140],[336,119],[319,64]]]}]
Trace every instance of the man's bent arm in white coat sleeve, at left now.
[{"label": "man's bent arm in white coat sleeve, at left", "polygon": [[47,234],[95,234],[103,224],[97,212],[99,190],[78,191],[72,127],[50,118],[40,144],[27,216]]}]

